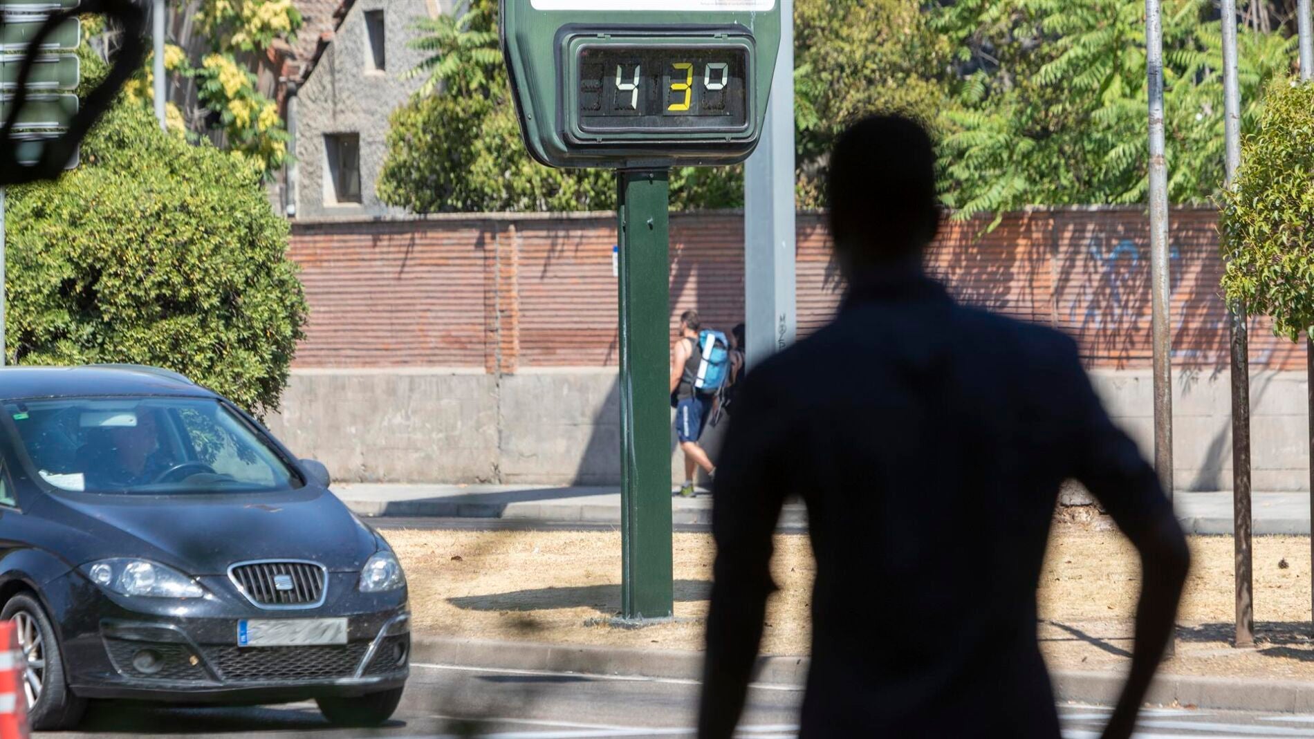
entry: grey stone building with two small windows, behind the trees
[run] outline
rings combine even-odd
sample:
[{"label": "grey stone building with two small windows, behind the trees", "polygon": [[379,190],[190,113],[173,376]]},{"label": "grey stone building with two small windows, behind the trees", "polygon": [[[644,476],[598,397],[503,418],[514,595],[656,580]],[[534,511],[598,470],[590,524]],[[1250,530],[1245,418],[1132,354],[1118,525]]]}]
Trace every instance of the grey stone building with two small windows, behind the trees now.
[{"label": "grey stone building with two small windows, behind the trees", "polygon": [[286,213],[293,218],[368,218],[398,213],[374,184],[388,155],[393,110],[423,84],[409,72],[424,59],[410,47],[417,21],[457,0],[348,0],[301,68],[288,126],[296,163]]}]

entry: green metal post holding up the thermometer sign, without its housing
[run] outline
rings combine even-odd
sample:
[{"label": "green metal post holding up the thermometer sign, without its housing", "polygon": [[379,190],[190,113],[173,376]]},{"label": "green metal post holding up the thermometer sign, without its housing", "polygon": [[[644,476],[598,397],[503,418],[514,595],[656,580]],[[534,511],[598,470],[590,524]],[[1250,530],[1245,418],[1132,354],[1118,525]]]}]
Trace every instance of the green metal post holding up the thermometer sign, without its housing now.
[{"label": "green metal post holding up the thermometer sign, without its housing", "polygon": [[622,618],[674,616],[669,173],[619,171]]}]

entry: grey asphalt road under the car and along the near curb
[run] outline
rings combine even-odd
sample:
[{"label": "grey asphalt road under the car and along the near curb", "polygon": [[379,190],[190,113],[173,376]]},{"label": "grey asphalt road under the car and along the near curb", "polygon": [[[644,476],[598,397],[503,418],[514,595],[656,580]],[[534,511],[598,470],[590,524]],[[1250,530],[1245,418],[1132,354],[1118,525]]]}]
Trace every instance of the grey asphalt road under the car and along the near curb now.
[{"label": "grey asphalt road under the car and along the near curb", "polygon": [[[84,731],[43,734],[68,739],[607,739],[692,736],[698,685],[551,672],[509,672],[414,665],[396,719],[373,731],[331,728],[313,704],[244,709],[167,709],[102,704]],[[796,735],[796,688],[758,685],[749,697],[742,739]],[[1108,709],[1060,706],[1064,739],[1097,739]],[[1314,736],[1314,715],[1156,709],[1142,718],[1139,739],[1209,736],[1272,739]]]}]

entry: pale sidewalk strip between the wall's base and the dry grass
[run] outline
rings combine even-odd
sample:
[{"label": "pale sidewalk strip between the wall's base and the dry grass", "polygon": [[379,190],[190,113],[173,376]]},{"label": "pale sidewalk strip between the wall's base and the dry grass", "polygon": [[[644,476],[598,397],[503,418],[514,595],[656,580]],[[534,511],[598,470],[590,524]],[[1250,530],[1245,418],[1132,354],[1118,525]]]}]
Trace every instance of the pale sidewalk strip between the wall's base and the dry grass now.
[{"label": "pale sidewalk strip between the wall's base and the dry grass", "polygon": [[[620,488],[495,484],[340,484],[335,492],[360,516],[430,518],[519,518],[533,521],[620,524]],[[1179,492],[1177,518],[1190,533],[1233,533],[1230,492]],[[712,497],[671,497],[675,524],[711,524]],[[1309,495],[1259,492],[1254,500],[1254,532],[1307,536]],[[805,526],[803,505],[790,504],[782,526]]]}]

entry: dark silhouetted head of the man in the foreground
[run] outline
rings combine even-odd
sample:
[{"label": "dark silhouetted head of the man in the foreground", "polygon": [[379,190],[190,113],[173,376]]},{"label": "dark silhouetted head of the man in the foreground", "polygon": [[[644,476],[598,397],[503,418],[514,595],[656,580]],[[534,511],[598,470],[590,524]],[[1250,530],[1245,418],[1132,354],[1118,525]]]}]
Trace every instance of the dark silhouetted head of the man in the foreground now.
[{"label": "dark silhouetted head of the man in the foreground", "polygon": [[827,194],[846,273],[917,259],[940,230],[930,135],[900,116],[858,121],[834,144]]}]

